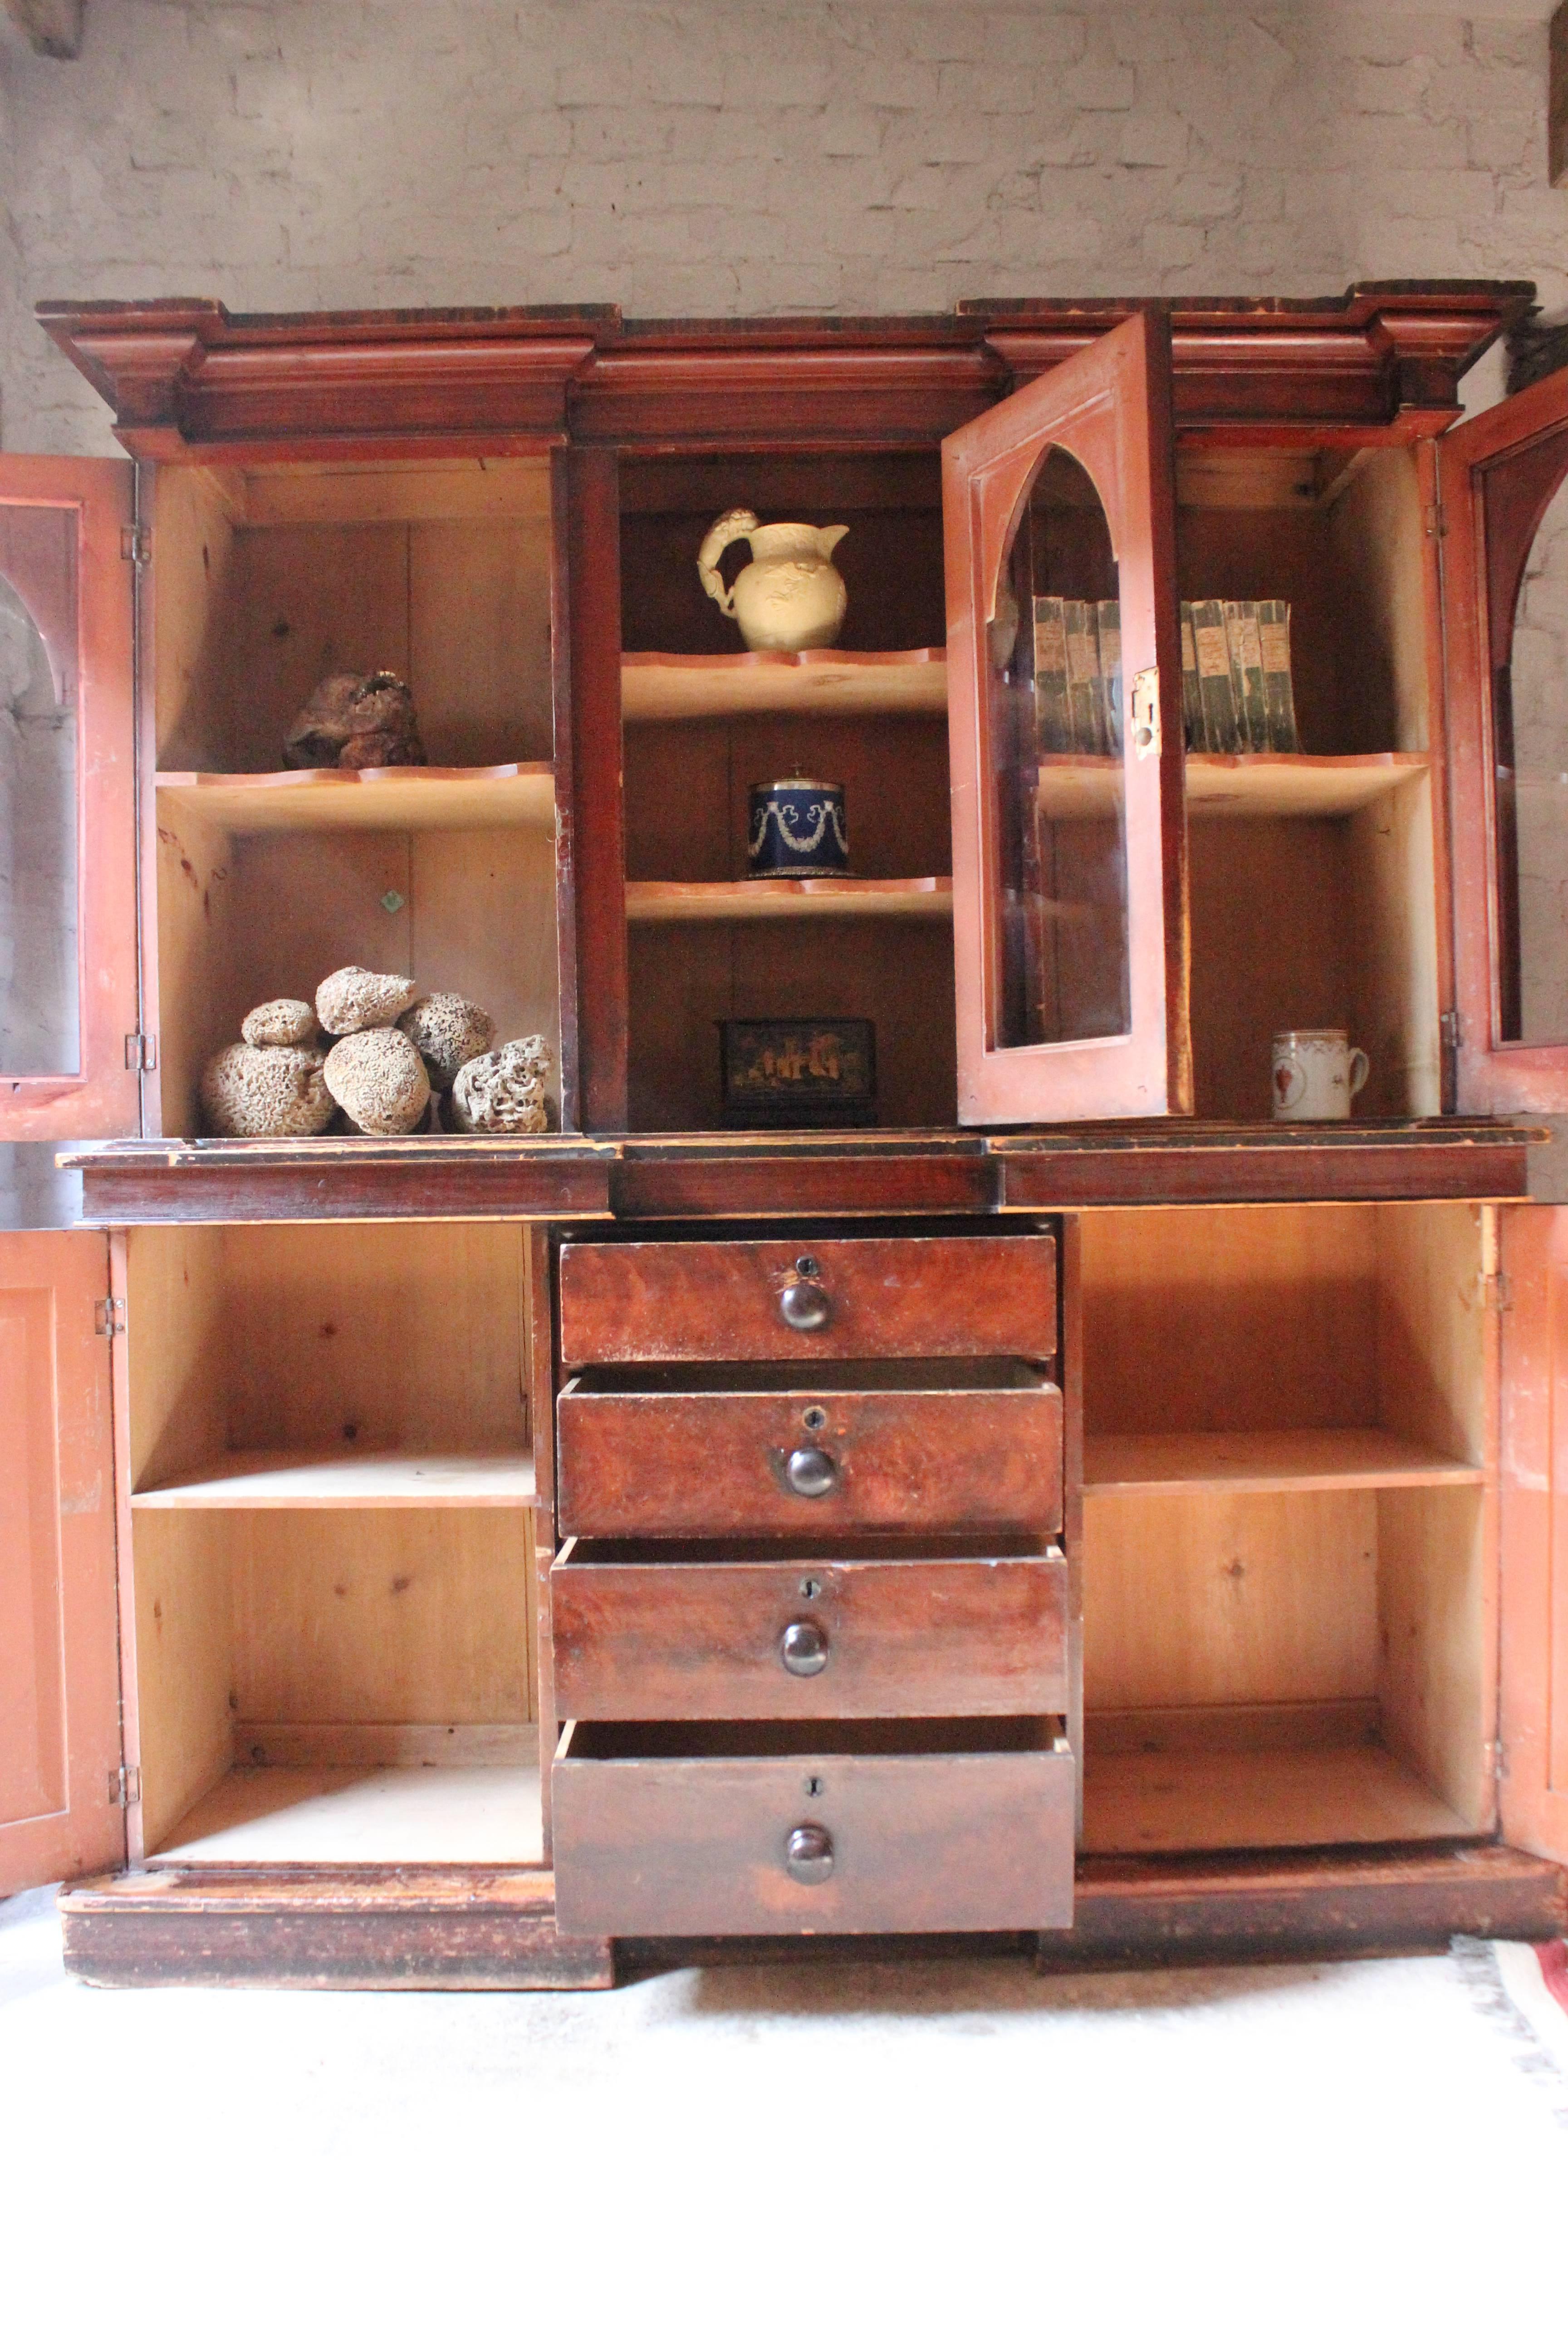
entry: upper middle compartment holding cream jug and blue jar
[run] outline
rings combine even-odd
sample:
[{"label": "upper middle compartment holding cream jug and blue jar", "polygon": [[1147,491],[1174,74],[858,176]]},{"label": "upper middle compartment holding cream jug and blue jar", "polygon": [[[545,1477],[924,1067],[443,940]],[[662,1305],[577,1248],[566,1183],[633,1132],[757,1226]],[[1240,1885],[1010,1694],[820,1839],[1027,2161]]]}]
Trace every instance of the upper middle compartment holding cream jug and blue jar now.
[{"label": "upper middle compartment holding cream jug and blue jar", "polygon": [[[860,1035],[839,1023],[870,1021],[877,1124],[950,1127],[936,452],[628,456],[618,475],[628,1124],[769,1117],[766,1103],[726,1110],[722,1021],[795,1023],[827,1056],[827,1040]],[[780,621],[792,590],[811,604],[804,628]],[[748,644],[802,633],[818,642]],[[752,861],[755,788],[788,779],[804,797],[764,818]],[[842,795],[837,823],[811,786]],[[816,1108],[780,1103],[778,1120]],[[820,1117],[844,1122],[832,1105]]]}]

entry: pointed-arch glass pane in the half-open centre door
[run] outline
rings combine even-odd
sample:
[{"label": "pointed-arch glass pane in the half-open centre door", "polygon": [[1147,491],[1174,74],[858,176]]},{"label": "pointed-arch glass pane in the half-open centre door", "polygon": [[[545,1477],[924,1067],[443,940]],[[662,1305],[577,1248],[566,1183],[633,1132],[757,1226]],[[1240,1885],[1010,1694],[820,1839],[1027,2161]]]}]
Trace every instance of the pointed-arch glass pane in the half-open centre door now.
[{"label": "pointed-arch glass pane in the half-open centre door", "polygon": [[990,626],[997,1044],[1128,1030],[1121,616],[1100,496],[1046,449]]}]

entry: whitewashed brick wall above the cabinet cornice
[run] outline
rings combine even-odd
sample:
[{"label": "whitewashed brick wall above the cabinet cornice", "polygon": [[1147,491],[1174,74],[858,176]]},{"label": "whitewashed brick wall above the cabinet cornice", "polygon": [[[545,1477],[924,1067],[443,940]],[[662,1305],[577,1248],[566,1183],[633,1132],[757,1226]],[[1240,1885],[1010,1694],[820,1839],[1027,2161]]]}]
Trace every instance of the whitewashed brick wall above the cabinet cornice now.
[{"label": "whitewashed brick wall above the cabinet cornice", "polygon": [[0,52],[0,440],[108,449],[40,294],[235,308],[1568,299],[1544,26],[919,0],[89,0]]}]

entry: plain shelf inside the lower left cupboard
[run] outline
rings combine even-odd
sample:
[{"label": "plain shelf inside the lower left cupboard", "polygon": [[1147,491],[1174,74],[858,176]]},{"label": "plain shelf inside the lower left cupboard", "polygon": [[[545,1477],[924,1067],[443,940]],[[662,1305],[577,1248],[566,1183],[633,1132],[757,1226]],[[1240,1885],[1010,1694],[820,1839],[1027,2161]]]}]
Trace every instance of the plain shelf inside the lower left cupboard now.
[{"label": "plain shelf inside the lower left cupboard", "polygon": [[223,1454],[134,1510],[451,1510],[534,1503],[531,1454],[327,1454],[310,1446]]}]

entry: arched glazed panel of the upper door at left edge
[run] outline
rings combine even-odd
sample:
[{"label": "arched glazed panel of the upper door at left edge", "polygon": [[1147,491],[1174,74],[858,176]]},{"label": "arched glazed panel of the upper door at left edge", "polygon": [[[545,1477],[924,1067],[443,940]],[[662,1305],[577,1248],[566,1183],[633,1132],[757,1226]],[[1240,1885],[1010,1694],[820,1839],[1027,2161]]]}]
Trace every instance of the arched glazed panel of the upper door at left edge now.
[{"label": "arched glazed panel of the upper door at left edge", "polygon": [[45,644],[75,616],[75,515],[9,508],[0,562],[0,1070],[71,1077],[78,1018],[75,647]]}]

